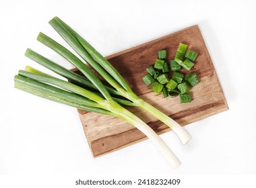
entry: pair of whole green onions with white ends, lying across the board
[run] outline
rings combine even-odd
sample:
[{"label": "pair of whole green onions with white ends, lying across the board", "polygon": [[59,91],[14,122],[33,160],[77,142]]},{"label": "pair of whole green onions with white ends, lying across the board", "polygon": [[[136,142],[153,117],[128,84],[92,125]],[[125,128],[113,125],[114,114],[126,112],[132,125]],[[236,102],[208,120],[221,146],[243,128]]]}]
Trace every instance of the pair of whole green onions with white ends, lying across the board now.
[{"label": "pair of whole green onions with white ends, lying across the board", "polygon": [[[150,126],[125,109],[123,105],[133,105],[148,111],[148,113],[172,128],[183,144],[186,144],[191,139],[191,135],[187,130],[169,118],[168,115],[165,115],[133,93],[131,87],[112,64],[59,17],[54,17],[49,23],[82,60],[45,34],[40,33],[37,40],[57,52],[67,62],[73,64],[84,77],[67,70],[56,62],[28,48],[25,53],[28,58],[49,68],[49,70],[67,80],[47,75],[35,68],[26,66],[24,71],[19,71],[18,75],[15,75],[15,87],[33,95],[78,109],[120,118],[143,132],[158,148],[171,167],[178,167],[180,161],[166,143]],[[86,63],[110,86],[103,85]]]}]

